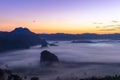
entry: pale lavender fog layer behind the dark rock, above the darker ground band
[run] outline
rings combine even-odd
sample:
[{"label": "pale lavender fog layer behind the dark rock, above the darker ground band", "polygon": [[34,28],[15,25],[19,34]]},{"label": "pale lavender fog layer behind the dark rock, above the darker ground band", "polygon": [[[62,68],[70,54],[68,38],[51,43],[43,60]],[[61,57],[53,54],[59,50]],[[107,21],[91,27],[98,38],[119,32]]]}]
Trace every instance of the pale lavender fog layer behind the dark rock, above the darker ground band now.
[{"label": "pale lavender fog layer behind the dark rock, above the darker ground band", "polygon": [[40,48],[37,45],[30,49],[0,53],[0,66],[37,66],[40,64],[40,53],[43,50],[54,53],[63,62],[120,63],[120,42],[71,43],[71,41],[59,41],[56,44],[58,46]]}]

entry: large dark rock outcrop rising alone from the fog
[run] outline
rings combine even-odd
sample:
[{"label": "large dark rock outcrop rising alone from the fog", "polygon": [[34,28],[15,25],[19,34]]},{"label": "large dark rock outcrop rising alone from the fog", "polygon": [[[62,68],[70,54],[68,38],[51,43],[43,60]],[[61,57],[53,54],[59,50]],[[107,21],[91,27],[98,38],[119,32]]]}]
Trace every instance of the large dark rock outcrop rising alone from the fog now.
[{"label": "large dark rock outcrop rising alone from the fog", "polygon": [[55,54],[45,50],[41,52],[40,62],[59,62],[59,59]]}]

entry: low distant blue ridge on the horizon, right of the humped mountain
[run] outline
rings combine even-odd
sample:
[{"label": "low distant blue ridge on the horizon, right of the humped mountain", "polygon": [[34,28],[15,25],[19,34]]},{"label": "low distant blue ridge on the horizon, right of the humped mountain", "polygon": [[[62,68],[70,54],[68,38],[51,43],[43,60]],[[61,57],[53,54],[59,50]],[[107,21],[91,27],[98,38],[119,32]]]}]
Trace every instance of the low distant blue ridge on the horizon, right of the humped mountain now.
[{"label": "low distant blue ridge on the horizon, right of the humped mountain", "polygon": [[40,38],[44,38],[46,40],[84,40],[84,39],[112,39],[118,40],[120,39],[120,34],[64,34],[64,33],[56,33],[56,34],[39,34]]}]

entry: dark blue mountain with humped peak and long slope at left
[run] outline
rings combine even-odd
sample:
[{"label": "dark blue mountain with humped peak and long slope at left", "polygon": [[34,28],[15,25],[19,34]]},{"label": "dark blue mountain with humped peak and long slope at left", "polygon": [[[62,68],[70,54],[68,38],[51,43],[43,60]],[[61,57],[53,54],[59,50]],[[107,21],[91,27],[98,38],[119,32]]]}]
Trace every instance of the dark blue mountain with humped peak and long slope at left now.
[{"label": "dark blue mountain with humped peak and long slope at left", "polygon": [[37,34],[27,28],[16,28],[11,32],[0,32],[0,52],[13,49],[26,49],[42,43]]}]

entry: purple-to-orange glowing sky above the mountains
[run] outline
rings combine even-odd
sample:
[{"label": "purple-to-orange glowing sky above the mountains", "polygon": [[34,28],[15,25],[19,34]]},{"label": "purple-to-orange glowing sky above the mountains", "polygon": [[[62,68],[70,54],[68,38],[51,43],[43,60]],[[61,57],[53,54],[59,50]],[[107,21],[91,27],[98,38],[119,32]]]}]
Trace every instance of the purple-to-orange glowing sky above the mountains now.
[{"label": "purple-to-orange glowing sky above the mountains", "polygon": [[120,0],[0,0],[0,31],[120,33]]}]

